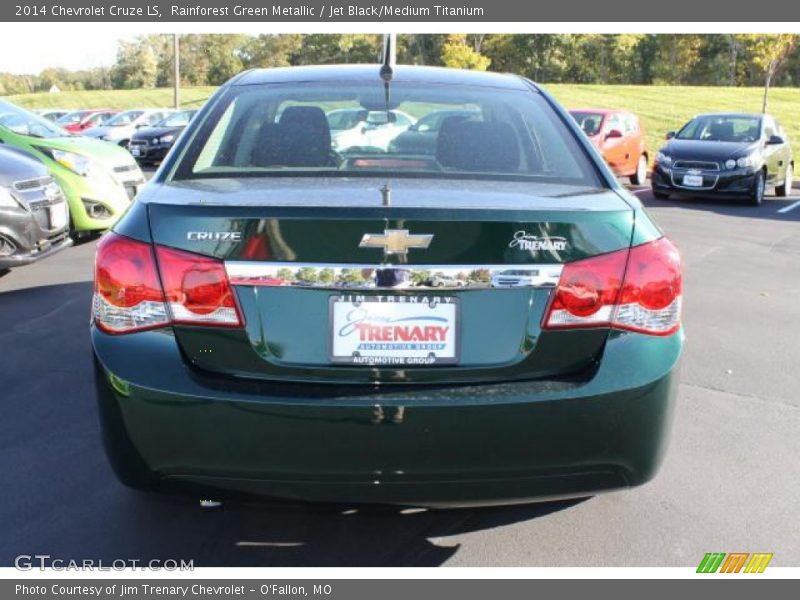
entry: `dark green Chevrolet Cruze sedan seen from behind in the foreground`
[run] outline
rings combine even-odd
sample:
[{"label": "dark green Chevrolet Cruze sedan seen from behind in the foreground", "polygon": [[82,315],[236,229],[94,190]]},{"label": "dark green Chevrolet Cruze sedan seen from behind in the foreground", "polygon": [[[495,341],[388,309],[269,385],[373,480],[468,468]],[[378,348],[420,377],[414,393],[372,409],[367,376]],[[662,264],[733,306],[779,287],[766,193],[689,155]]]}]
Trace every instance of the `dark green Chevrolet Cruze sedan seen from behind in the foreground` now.
[{"label": "dark green Chevrolet Cruze sedan seen from behind in the foreground", "polygon": [[[370,123],[336,151],[341,109]],[[452,116],[370,144],[398,111]],[[669,439],[681,282],[674,245],[524,78],[248,71],[98,244],[106,451],[130,486],[206,499],[636,486]]]}]

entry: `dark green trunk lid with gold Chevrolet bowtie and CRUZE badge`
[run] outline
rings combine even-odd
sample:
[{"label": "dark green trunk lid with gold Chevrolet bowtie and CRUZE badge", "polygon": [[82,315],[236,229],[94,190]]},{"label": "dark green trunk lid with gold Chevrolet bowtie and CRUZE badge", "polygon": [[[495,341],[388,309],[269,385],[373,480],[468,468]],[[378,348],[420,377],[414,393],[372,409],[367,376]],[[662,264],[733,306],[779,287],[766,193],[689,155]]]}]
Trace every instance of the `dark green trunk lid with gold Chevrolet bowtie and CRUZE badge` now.
[{"label": "dark green trunk lid with gold Chevrolet bowtie and CRUZE badge", "polygon": [[[542,331],[541,320],[561,265],[628,247],[634,218],[610,190],[517,182],[216,179],[154,192],[155,243],[224,260],[245,319],[243,330],[175,327],[192,364],[350,384],[562,377],[591,367],[606,330]],[[399,242],[383,237],[393,231]],[[432,237],[407,254],[385,253],[420,241],[413,236]],[[336,302],[433,305],[429,316],[450,303],[453,338],[443,352],[453,355],[423,366],[337,360],[333,330],[350,317]],[[380,310],[393,323],[419,312]],[[427,330],[375,331],[391,339]]]}]

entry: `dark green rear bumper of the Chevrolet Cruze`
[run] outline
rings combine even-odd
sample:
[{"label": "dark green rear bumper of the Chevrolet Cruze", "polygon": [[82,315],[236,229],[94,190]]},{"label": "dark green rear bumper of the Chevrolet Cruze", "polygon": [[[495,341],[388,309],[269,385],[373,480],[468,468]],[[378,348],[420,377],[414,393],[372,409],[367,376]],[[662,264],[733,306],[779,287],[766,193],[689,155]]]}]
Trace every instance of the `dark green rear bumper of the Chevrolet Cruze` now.
[{"label": "dark green rear bumper of the Chevrolet Cruze", "polygon": [[648,481],[667,445],[683,343],[682,332],[614,332],[581,382],[378,390],[218,379],[188,369],[169,330],[92,338],[104,441],[126,483],[422,506]]}]

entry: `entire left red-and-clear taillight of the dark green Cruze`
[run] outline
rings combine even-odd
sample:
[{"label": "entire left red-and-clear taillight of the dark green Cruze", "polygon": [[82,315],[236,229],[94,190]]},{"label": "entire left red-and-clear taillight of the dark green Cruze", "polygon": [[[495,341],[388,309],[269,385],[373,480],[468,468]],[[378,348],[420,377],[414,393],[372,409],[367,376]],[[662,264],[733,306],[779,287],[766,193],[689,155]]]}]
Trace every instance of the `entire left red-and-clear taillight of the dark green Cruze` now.
[{"label": "entire left red-and-clear taillight of the dark green Cruze", "polygon": [[94,289],[94,321],[108,333],[242,324],[221,261],[163,247],[154,254],[150,244],[115,233],[97,245]]}]

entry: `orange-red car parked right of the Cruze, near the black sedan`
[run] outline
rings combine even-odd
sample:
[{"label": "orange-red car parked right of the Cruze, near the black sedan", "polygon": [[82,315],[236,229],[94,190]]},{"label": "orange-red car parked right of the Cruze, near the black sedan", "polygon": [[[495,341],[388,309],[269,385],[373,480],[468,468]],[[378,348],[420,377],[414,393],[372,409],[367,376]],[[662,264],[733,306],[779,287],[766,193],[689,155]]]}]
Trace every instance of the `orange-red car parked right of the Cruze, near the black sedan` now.
[{"label": "orange-red car parked right of the Cruze, near the black sedan", "polygon": [[633,113],[604,108],[569,111],[617,177],[630,177],[634,185],[647,179],[647,145],[644,128]]}]

